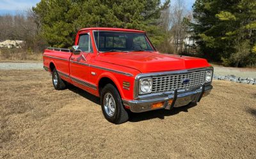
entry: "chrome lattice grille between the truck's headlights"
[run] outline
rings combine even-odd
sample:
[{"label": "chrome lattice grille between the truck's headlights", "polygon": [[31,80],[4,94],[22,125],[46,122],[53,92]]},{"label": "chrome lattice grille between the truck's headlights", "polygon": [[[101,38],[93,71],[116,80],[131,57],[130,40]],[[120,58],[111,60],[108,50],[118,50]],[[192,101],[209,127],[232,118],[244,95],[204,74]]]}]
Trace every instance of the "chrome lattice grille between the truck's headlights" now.
[{"label": "chrome lattice grille between the truck's headlights", "polygon": [[[152,93],[174,91],[175,89],[188,89],[189,87],[200,86],[201,84],[204,84],[205,76],[206,71],[152,77]],[[182,84],[184,79],[190,79],[188,84]]]}]

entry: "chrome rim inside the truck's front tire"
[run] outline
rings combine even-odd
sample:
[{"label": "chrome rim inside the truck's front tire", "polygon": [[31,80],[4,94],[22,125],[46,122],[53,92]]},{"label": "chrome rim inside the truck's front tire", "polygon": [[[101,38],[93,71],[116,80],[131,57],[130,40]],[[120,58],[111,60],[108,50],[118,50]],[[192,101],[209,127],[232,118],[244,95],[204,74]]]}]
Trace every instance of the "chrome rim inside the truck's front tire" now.
[{"label": "chrome rim inside the truck's front tire", "polygon": [[115,110],[116,110],[116,103],[111,93],[106,93],[104,95],[103,103],[104,103],[105,112],[108,114],[108,116],[110,117],[114,116]]}]

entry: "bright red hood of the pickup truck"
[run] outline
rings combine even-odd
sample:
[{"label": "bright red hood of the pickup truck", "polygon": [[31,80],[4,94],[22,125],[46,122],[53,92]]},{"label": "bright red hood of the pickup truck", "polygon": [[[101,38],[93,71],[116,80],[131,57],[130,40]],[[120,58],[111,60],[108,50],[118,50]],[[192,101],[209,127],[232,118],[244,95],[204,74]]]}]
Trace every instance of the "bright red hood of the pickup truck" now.
[{"label": "bright red hood of the pickup truck", "polygon": [[101,53],[97,60],[134,68],[141,73],[186,70],[211,66],[205,59],[160,54],[159,52],[106,52]]}]

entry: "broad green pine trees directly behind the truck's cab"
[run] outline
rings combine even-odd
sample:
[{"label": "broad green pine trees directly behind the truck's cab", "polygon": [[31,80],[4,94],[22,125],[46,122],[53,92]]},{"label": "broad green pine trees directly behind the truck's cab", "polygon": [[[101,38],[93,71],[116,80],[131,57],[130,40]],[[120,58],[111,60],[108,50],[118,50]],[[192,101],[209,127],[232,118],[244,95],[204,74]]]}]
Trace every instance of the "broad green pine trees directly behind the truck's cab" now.
[{"label": "broad green pine trees directly behind the truck's cab", "polygon": [[[42,24],[42,36],[53,47],[70,47],[83,27],[122,27],[147,31],[154,45],[163,40],[156,26],[160,0],[42,0],[33,8]],[[158,35],[158,36],[155,36]]]}]

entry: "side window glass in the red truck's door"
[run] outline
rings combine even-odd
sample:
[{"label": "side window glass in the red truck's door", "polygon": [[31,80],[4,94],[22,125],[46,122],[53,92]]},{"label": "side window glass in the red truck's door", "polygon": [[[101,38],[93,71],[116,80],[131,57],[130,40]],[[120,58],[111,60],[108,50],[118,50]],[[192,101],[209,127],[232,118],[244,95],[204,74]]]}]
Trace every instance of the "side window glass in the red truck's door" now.
[{"label": "side window glass in the red truck's door", "polygon": [[83,52],[92,52],[92,40],[90,39],[89,34],[79,35],[78,45],[79,49]]}]

